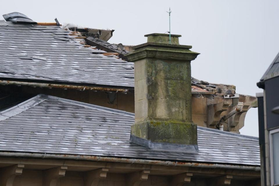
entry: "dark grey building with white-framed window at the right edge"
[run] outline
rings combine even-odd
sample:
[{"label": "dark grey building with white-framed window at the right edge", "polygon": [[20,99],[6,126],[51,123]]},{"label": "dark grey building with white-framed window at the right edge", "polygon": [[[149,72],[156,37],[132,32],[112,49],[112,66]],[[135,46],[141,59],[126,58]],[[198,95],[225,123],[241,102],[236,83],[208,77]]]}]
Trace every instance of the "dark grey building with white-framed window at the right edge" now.
[{"label": "dark grey building with white-framed window at the right edge", "polygon": [[279,185],[279,53],[257,86],[262,185]]}]

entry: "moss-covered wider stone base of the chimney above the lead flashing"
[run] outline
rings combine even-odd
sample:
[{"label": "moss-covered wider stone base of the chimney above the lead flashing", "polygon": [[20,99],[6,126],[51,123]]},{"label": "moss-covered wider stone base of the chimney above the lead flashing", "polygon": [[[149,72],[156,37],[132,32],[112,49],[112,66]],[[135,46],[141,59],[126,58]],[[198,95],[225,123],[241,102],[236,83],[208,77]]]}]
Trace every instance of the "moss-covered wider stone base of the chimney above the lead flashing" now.
[{"label": "moss-covered wider stone base of the chimney above the lead flashing", "polygon": [[197,144],[197,126],[178,121],[145,121],[132,126],[131,133],[152,142]]}]

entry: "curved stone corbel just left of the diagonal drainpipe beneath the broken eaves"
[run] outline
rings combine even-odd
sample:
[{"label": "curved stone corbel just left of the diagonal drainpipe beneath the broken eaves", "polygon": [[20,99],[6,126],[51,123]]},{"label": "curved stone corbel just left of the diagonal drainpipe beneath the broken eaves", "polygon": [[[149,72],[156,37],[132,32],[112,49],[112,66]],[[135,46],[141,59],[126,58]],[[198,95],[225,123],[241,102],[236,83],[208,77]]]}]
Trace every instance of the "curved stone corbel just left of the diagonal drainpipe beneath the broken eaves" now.
[{"label": "curved stone corbel just left of the diagonal drainpipe beneath the broken eaves", "polygon": [[214,103],[212,105],[208,105],[208,125],[215,126],[221,119],[221,114],[224,111],[228,110],[228,106],[230,102],[221,102],[221,103]]}]

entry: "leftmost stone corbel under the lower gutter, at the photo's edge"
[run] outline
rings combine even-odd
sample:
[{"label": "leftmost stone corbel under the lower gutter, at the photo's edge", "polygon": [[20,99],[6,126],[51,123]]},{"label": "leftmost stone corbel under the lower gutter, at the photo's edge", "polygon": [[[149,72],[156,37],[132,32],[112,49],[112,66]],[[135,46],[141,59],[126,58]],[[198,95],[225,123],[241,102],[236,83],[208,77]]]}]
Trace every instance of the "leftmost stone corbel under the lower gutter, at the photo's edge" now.
[{"label": "leftmost stone corbel under the lower gutter, at the photo's edge", "polygon": [[9,167],[5,167],[1,171],[0,186],[12,186],[15,177],[22,174],[24,168],[23,164],[15,164]]}]

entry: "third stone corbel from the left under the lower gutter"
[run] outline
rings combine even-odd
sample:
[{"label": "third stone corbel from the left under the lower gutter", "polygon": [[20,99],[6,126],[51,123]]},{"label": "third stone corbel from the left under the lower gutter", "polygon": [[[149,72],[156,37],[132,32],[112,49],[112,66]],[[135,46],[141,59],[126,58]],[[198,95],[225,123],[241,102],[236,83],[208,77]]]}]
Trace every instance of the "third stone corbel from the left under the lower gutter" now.
[{"label": "third stone corbel from the left under the lower gutter", "polygon": [[85,186],[98,185],[100,179],[104,179],[107,177],[107,173],[107,168],[101,168],[86,172],[84,177]]}]

